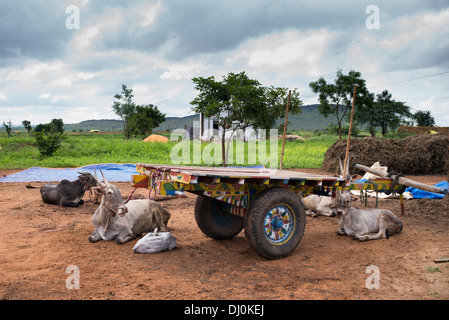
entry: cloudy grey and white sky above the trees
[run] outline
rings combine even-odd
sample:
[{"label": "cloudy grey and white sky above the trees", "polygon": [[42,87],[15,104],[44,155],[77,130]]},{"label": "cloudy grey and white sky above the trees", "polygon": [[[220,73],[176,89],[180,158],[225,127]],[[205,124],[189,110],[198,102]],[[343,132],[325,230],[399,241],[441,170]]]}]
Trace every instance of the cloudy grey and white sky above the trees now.
[{"label": "cloudy grey and white sky above the trees", "polygon": [[241,71],[312,104],[341,68],[449,126],[448,21],[447,0],[0,0],[0,122],[117,119],[122,84],[191,115],[193,77]]}]

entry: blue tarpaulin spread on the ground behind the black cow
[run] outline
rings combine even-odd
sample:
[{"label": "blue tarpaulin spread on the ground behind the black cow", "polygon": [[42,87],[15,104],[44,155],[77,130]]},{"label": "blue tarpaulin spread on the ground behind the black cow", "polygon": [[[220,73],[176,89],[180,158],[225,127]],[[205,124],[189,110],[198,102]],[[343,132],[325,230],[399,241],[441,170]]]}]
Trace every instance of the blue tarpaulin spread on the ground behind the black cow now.
[{"label": "blue tarpaulin spread on the ground behind the black cow", "polygon": [[97,169],[97,176],[99,179],[102,179],[99,171],[101,169],[109,182],[130,182],[131,175],[137,174],[136,165],[128,163],[103,163],[79,168],[62,169],[32,167],[5,177],[0,177],[0,182],[47,182],[61,181],[63,179],[74,181],[78,179],[78,172],[89,172],[93,175],[95,169]]}]

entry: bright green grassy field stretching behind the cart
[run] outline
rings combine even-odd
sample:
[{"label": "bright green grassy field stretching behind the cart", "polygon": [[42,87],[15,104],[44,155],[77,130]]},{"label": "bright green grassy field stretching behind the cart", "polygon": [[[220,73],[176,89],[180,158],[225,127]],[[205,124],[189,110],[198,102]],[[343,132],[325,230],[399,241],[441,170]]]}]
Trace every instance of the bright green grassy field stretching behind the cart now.
[{"label": "bright green grassy field stretching behind the cart", "polygon": [[[326,150],[336,141],[336,136],[311,136],[306,141],[285,143],[283,168],[319,168]],[[195,144],[196,143],[196,144]],[[266,165],[264,157],[274,159],[271,167],[278,167],[282,141],[277,141],[277,156],[270,154],[270,141],[266,149],[261,142],[234,142],[233,160],[229,165]],[[194,145],[195,144],[195,145]],[[49,158],[42,158],[35,139],[26,133],[7,137],[0,135],[0,169],[25,169],[29,167],[80,167],[96,163],[156,163],[221,166],[219,143],[168,142],[145,143],[140,139],[123,141],[121,134],[67,134],[61,148]],[[173,152],[172,152],[172,148]],[[201,152],[198,150],[201,149]],[[177,153],[175,151],[178,151]],[[214,154],[214,151],[216,154]],[[172,155],[171,155],[172,152]],[[243,153],[243,155],[242,155]],[[172,161],[174,159],[174,161]],[[181,161],[183,160],[183,161]],[[181,163],[179,163],[181,161]],[[201,161],[201,163],[198,163]],[[268,165],[267,165],[268,166]]]}]

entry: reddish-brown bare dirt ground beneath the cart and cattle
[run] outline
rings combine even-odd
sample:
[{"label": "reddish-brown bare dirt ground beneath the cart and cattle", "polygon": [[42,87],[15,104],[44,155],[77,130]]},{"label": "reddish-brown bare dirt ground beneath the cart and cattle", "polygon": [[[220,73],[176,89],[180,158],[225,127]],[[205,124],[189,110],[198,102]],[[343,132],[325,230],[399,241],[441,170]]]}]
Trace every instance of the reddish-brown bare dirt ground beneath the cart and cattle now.
[{"label": "reddish-brown bare dirt ground beneath the cart and cattle", "polygon": [[[408,178],[427,184],[446,179]],[[97,205],[48,205],[26,184],[0,183],[2,299],[449,299],[449,263],[434,263],[449,258],[446,200],[406,201],[404,216],[398,200],[379,200],[404,223],[402,233],[388,240],[358,242],[336,234],[338,218],[307,217],[296,250],[272,261],[252,250],[244,231],[231,240],[207,238],[196,225],[191,194],[160,201],[172,213],[175,249],[136,254],[137,240],[88,241]],[[133,189],[117,185],[125,198]],[[138,189],[134,198],[146,195]],[[378,267],[379,289],[367,288],[371,265]],[[66,287],[68,266],[79,268],[79,289]]]}]

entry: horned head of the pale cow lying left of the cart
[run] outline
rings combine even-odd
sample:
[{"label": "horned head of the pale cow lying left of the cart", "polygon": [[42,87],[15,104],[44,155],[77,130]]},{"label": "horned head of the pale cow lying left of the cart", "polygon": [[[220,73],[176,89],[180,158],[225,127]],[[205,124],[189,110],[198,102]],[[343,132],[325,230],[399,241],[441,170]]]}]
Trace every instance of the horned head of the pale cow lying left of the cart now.
[{"label": "horned head of the pale cow lying left of the cart", "polygon": [[101,182],[98,179],[97,171],[95,170],[95,178],[97,179],[99,186],[92,188],[96,194],[102,196],[100,206],[104,206],[113,217],[115,217],[116,214],[118,214],[121,217],[124,217],[125,214],[128,212],[128,208],[125,206],[125,203],[123,202],[122,192],[117,186],[110,184],[106,180],[103,171],[100,170],[100,172],[101,175],[103,176],[104,182]]}]

